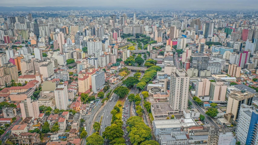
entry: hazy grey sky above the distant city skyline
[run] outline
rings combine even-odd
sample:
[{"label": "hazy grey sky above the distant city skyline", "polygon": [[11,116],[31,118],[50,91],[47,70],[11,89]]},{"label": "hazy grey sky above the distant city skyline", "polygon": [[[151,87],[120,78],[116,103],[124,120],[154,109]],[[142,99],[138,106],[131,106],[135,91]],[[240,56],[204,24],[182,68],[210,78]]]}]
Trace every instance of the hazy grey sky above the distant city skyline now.
[{"label": "hazy grey sky above the distant city skyline", "polygon": [[0,0],[1,6],[78,6],[130,9],[258,10],[258,0]]}]

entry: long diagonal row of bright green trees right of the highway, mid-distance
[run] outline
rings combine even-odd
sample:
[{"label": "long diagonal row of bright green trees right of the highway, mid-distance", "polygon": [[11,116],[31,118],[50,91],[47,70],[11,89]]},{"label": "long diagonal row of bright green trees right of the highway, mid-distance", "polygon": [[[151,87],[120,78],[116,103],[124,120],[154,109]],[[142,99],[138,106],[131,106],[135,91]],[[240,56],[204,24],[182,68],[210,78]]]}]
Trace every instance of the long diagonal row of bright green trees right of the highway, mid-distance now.
[{"label": "long diagonal row of bright green trees right of the highway, mid-distance", "polygon": [[154,76],[156,76],[157,71],[161,71],[160,66],[151,66],[149,69],[147,69],[142,77],[140,79],[140,82],[136,85],[136,88],[143,89],[145,85],[152,80]]}]

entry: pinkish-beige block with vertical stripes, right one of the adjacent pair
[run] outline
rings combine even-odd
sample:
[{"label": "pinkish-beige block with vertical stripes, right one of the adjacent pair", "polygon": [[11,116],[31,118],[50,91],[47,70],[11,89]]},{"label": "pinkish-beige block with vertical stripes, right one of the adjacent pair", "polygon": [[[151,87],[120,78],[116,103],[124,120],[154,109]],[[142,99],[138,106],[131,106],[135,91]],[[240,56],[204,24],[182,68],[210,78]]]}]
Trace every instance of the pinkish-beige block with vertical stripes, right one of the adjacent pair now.
[{"label": "pinkish-beige block with vertical stripes, right one of the adjacent pair", "polygon": [[225,101],[226,93],[227,85],[223,82],[211,82],[209,93],[211,101]]}]

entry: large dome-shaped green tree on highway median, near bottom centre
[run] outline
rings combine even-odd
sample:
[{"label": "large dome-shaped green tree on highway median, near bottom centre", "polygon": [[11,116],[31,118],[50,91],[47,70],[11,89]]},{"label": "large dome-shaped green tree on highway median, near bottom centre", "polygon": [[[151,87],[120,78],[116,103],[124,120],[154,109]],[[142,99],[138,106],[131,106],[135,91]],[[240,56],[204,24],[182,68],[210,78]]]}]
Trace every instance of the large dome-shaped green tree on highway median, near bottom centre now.
[{"label": "large dome-shaped green tree on highway median, near bottom centre", "polygon": [[108,140],[113,140],[115,138],[123,137],[123,134],[124,132],[121,126],[118,126],[117,124],[111,124],[111,126],[105,128],[102,136]]}]

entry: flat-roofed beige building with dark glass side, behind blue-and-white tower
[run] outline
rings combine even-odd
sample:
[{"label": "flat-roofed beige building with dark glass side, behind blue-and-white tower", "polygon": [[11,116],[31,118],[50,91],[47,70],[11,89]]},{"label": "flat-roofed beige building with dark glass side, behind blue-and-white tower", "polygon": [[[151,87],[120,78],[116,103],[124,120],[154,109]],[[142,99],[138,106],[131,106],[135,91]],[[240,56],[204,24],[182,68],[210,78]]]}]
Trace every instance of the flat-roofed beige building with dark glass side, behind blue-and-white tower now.
[{"label": "flat-roofed beige building with dark glass side, behind blue-and-white tower", "polygon": [[232,113],[234,115],[233,120],[237,121],[240,111],[240,105],[252,105],[253,97],[255,94],[246,91],[231,90],[227,100],[227,111],[226,114]]}]

